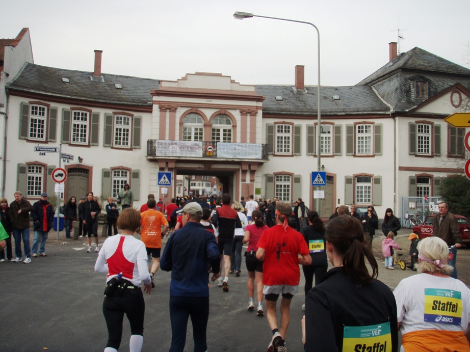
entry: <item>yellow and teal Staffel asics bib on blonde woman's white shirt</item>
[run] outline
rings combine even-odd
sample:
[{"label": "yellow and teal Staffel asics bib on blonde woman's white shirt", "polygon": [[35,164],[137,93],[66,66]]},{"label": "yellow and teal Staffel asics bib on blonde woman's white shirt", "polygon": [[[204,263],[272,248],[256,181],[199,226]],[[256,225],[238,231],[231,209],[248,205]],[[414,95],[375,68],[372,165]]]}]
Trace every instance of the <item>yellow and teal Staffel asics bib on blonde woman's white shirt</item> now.
[{"label": "yellow and teal Staffel asics bib on blonde woman's white shirt", "polygon": [[462,310],[462,294],[459,291],[425,288],[424,321],[460,325]]}]

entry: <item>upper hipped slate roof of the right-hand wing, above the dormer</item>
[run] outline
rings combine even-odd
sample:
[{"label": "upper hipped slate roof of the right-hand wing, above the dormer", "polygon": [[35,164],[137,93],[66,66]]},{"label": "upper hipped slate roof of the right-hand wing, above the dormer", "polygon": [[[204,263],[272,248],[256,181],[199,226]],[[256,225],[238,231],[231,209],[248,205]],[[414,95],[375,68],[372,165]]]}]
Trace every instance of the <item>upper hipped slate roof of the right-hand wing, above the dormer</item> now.
[{"label": "upper hipped slate roof of the right-hand wing, above the dormer", "polygon": [[421,71],[433,71],[451,74],[470,75],[470,70],[443,59],[433,53],[414,47],[407,52],[402,53],[394,60],[379,68],[377,71],[364,78],[356,86],[368,85],[376,80],[399,69],[412,69]]}]

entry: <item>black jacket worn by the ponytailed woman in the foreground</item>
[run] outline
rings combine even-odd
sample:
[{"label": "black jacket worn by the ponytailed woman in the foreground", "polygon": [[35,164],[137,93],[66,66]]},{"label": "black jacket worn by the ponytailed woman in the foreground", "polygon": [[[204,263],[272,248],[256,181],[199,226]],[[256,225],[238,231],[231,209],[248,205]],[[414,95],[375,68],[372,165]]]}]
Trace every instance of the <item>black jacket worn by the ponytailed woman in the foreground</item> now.
[{"label": "black jacket worn by the ponytailed woman in the foreground", "polygon": [[[342,351],[345,327],[383,327],[386,323],[390,324],[391,335],[391,346],[386,350],[398,350],[395,296],[379,280],[357,285],[341,268],[332,268],[322,282],[307,293],[305,319],[307,352]],[[380,336],[377,338],[383,341]]]}]

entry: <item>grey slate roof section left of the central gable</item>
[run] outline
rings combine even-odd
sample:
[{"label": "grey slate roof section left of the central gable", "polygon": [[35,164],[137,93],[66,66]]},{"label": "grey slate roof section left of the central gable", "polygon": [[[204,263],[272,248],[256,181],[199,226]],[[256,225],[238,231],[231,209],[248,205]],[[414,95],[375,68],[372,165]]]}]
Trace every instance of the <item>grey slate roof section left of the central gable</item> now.
[{"label": "grey slate roof section left of the central gable", "polygon": [[[91,80],[92,76],[93,72],[26,64],[8,88],[65,98],[146,106],[152,101],[150,90],[159,88],[158,79],[102,73],[102,80]],[[65,83],[62,78],[68,78],[70,82]],[[120,84],[122,89],[117,89],[115,84]]]}]

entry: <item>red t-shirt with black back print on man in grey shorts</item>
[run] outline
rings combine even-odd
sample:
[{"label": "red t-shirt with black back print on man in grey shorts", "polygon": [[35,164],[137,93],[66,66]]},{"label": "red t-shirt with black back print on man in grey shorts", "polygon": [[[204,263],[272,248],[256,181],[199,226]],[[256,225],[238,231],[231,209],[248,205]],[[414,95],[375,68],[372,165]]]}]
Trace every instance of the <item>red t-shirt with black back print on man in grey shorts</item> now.
[{"label": "red t-shirt with black back print on man in grey shorts", "polygon": [[282,225],[263,231],[258,248],[266,251],[263,262],[263,285],[297,286],[300,282],[299,254],[309,254],[307,243],[300,232]]}]

